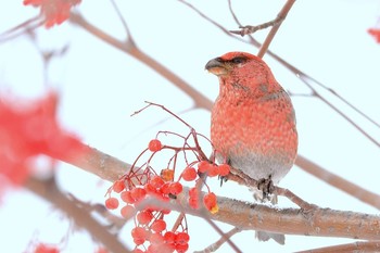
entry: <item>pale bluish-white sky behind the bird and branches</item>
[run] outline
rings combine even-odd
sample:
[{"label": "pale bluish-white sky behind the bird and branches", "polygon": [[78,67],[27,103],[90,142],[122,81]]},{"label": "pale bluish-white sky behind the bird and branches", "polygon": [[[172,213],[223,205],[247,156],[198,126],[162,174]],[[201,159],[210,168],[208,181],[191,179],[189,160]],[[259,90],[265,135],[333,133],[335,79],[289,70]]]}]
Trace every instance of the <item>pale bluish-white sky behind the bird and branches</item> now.
[{"label": "pale bluish-white sky behind the bird and branches", "polygon": [[[192,3],[226,28],[237,29],[227,1]],[[261,24],[273,20],[284,1],[232,3],[243,24]],[[178,1],[119,1],[118,4],[139,48],[212,100],[217,96],[218,81],[204,71],[205,63],[228,51],[257,52],[257,49],[227,37]],[[78,10],[92,24],[117,38],[125,38],[109,1],[84,0]],[[8,1],[0,9],[0,33],[37,13],[30,7],[23,7],[21,0]],[[380,45],[366,31],[379,16],[380,2],[376,0],[296,1],[270,50],[380,122]],[[267,30],[258,31],[256,38],[262,40],[266,34]],[[62,123],[90,146],[130,163],[157,130],[183,129],[173,119],[156,125],[167,118],[159,109],[129,116],[144,105],[144,100],[165,104],[177,113],[193,104],[183,92],[143,64],[72,24],[39,29],[38,42],[45,50],[69,45],[68,52],[49,65],[49,86],[61,91]],[[264,59],[286,89],[294,93],[307,92],[292,73],[269,56]],[[43,93],[42,66],[39,52],[26,37],[1,43],[0,91],[28,98]],[[319,100],[305,97],[293,97],[292,100],[300,134],[299,153],[379,193],[379,148]],[[379,128],[332,101],[380,141]],[[199,132],[208,135],[208,112],[192,110],[181,116]],[[84,201],[104,200],[107,182],[101,184],[97,177],[64,164],[58,174],[64,191]],[[219,194],[251,201],[250,192],[233,182],[221,189],[217,182],[211,185]],[[297,167],[280,186],[324,207],[378,213]],[[280,205],[288,206],[289,202],[281,198]],[[0,208],[0,237],[5,240],[2,240],[0,251],[22,252],[37,230],[40,240],[58,242],[67,227],[67,224],[56,222],[59,216],[49,204],[22,190],[5,195]],[[218,239],[202,219],[189,217],[189,227],[191,251],[204,249]],[[225,231],[230,229],[220,227]],[[122,236],[128,238],[129,230],[123,230]],[[243,252],[292,252],[352,241],[287,236],[287,244],[280,246],[275,242],[257,242],[252,231],[241,232],[232,240]],[[93,252],[93,246],[86,236],[76,232],[65,252]],[[219,252],[230,252],[230,249],[224,245]]]}]

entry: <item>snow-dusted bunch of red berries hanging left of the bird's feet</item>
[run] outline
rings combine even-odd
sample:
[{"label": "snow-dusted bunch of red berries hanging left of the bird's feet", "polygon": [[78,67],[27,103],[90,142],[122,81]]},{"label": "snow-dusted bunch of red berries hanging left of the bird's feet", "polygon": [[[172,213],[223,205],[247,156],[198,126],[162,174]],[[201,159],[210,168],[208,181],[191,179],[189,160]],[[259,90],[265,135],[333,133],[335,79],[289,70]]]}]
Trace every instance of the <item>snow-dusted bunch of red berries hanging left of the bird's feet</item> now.
[{"label": "snow-dusted bunch of red berries hanging left of the bird's feet", "polygon": [[[177,218],[177,223],[172,229],[165,222],[170,210],[153,206],[151,203],[143,202],[147,198],[159,200],[163,203],[176,200],[177,195],[183,191],[183,182],[193,182],[193,187],[189,190],[189,206],[199,208],[200,203],[211,213],[218,212],[216,194],[210,191],[204,195],[200,194],[199,185],[205,184],[201,174],[210,177],[227,176],[229,174],[229,165],[216,165],[207,160],[199,160],[188,163],[179,176],[176,177],[176,166],[165,168],[157,174],[149,164],[153,155],[164,149],[175,150],[176,155],[183,148],[175,149],[173,147],[163,146],[159,139],[149,142],[147,151],[151,151],[151,156],[143,166],[137,167],[135,164],[127,175],[121,177],[110,188],[105,200],[105,206],[109,210],[119,210],[121,215],[125,218],[135,218],[135,228],[131,230],[131,237],[136,244],[135,252],[186,252],[189,248],[190,237],[188,235],[188,226],[185,214]],[[190,151],[194,152],[198,149]],[[189,149],[188,149],[189,151]],[[141,157],[141,154],[139,155]],[[139,159],[138,157],[138,159]],[[195,156],[199,157],[199,156]],[[169,163],[170,164],[170,163]],[[195,168],[198,167],[198,168]],[[111,197],[111,193],[117,193],[118,198]],[[202,202],[200,201],[202,199]],[[119,203],[122,201],[122,204]],[[179,222],[178,222],[179,220]]]}]

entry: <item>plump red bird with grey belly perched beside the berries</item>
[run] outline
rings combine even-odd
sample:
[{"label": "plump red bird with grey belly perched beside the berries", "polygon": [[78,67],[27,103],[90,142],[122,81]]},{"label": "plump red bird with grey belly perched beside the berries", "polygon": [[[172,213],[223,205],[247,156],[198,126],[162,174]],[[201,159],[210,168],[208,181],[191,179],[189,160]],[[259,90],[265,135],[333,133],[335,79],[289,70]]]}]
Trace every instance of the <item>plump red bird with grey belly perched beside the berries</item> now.
[{"label": "plump red bird with grey belly perched beside the berries", "polygon": [[[288,93],[265,62],[250,53],[226,53],[208,61],[205,68],[219,78],[211,123],[211,140],[223,154],[216,157],[219,162],[227,157],[235,174],[277,185],[292,167],[297,150]],[[266,193],[258,199],[267,199]],[[284,243],[283,235],[258,231],[256,237]]]}]

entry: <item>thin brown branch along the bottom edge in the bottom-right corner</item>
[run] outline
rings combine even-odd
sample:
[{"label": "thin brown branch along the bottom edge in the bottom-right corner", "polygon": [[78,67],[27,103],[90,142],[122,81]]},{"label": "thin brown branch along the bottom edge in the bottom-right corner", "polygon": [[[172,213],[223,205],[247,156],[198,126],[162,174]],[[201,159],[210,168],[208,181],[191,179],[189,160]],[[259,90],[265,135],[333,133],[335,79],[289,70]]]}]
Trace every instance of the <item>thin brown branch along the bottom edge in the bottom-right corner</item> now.
[{"label": "thin brown branch along the bottom edge in the bottom-right corner", "polygon": [[325,246],[297,253],[347,253],[347,252],[380,252],[379,241],[357,241],[354,243]]}]

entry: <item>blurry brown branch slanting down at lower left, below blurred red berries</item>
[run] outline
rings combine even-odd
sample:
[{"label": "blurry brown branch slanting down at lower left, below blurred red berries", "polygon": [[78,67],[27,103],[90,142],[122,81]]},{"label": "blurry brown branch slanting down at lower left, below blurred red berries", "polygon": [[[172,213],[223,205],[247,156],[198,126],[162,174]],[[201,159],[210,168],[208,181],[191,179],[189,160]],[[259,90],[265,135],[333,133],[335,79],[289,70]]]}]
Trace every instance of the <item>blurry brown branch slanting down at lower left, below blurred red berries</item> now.
[{"label": "blurry brown branch slanting down at lower left, below blurred red berries", "polygon": [[101,242],[110,252],[114,253],[128,253],[130,252],[118,239],[116,235],[111,233],[105,227],[100,225],[87,210],[78,207],[74,201],[69,200],[67,195],[62,193],[55,184],[53,178],[51,179],[37,179],[29,177],[25,185],[25,188],[36,193],[37,195],[46,199],[50,203],[54,204],[68,217],[75,220],[78,227],[81,227],[91,232],[99,242]]}]

